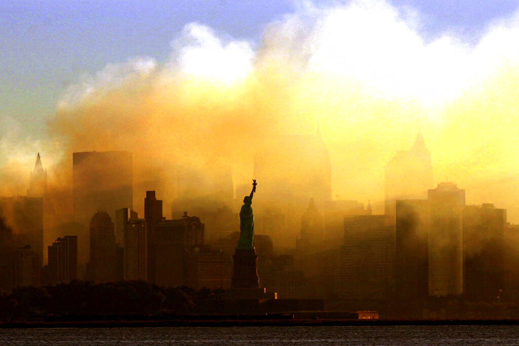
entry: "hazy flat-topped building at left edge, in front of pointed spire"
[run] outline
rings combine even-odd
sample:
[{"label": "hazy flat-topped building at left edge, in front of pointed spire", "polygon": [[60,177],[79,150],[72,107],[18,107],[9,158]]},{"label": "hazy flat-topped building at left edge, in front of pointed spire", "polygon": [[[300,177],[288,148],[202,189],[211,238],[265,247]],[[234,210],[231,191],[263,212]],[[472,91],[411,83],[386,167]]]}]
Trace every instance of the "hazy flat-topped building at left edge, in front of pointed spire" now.
[{"label": "hazy flat-topped building at left edge, in front of pointed spire", "polygon": [[0,197],[0,217],[16,234],[20,245],[30,245],[43,263],[43,198]]}]

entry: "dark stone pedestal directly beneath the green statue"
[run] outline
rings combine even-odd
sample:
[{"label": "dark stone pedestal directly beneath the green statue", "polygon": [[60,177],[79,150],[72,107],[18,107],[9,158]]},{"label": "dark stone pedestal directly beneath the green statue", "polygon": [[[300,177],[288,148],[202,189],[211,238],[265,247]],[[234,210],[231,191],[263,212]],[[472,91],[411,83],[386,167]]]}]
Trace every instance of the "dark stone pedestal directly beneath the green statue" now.
[{"label": "dark stone pedestal directly beneath the green statue", "polygon": [[260,289],[257,274],[257,258],[254,248],[237,248],[234,259],[234,272],[231,288],[240,290]]}]

